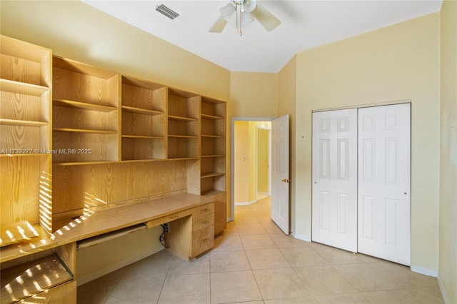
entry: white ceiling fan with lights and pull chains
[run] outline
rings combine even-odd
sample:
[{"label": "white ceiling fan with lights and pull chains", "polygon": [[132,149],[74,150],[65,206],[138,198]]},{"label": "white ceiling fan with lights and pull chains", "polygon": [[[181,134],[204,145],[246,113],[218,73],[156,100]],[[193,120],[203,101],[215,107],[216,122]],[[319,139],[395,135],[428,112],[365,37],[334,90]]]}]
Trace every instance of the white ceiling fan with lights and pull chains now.
[{"label": "white ceiling fan with lights and pull chains", "polygon": [[242,33],[242,27],[257,20],[264,29],[272,31],[281,21],[257,3],[257,0],[231,0],[229,4],[219,9],[221,16],[216,20],[209,31],[211,33],[221,33],[229,22],[231,15],[236,13],[236,33]]}]

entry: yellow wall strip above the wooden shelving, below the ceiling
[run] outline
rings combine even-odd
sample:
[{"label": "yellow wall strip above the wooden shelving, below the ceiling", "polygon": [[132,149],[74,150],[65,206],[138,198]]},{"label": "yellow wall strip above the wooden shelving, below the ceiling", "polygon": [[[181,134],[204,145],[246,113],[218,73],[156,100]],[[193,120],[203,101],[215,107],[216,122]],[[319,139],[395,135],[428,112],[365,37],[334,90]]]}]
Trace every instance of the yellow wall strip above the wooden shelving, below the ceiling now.
[{"label": "yellow wall strip above the wooden shelving, below the ceiling", "polygon": [[81,1],[0,1],[1,34],[55,55],[224,101],[230,71]]}]

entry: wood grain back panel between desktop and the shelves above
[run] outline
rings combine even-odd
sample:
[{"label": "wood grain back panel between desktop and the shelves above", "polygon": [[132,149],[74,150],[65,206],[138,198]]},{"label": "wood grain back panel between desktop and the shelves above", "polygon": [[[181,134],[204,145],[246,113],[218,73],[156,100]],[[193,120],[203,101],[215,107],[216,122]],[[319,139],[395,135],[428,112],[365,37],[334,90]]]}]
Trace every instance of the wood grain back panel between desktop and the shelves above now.
[{"label": "wood grain back panel between desktop and the shelves above", "polygon": [[106,206],[145,196],[185,191],[184,161],[107,163],[92,166],[54,166],[54,218],[59,213]]}]

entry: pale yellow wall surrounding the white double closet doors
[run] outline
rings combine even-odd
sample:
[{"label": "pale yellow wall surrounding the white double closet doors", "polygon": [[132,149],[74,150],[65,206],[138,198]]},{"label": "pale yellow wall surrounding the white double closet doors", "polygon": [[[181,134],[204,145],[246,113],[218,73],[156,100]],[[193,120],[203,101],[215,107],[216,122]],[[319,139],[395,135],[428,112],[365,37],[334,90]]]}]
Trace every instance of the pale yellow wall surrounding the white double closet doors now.
[{"label": "pale yellow wall surrounding the white double closet doors", "polygon": [[296,55],[295,233],[311,237],[311,111],[411,100],[411,264],[438,269],[439,14]]}]

